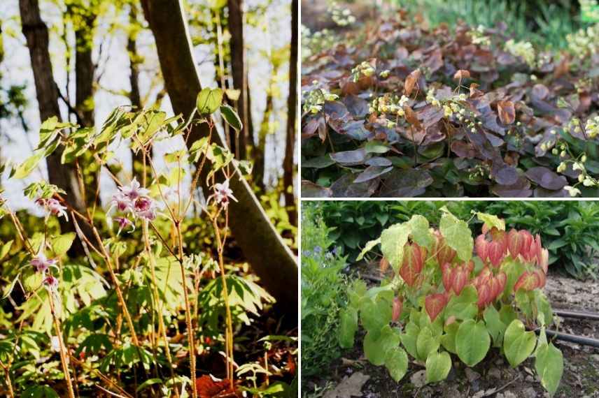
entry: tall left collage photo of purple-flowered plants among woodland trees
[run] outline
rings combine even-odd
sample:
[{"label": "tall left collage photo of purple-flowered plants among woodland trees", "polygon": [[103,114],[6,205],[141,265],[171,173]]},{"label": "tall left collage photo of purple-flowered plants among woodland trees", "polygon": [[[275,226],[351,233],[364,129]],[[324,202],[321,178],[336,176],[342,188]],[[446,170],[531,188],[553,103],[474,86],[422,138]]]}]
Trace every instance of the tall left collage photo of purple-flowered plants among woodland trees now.
[{"label": "tall left collage photo of purple-flowered plants among woodland trees", "polygon": [[299,395],[297,0],[0,1],[0,397]]}]

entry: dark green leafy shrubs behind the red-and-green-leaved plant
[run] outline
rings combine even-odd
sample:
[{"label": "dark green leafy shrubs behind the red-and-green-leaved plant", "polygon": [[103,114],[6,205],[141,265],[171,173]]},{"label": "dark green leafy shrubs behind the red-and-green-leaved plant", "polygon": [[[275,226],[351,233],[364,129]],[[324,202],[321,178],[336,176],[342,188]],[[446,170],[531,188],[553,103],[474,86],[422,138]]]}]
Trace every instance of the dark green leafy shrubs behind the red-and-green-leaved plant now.
[{"label": "dark green leafy shrubs behind the red-and-green-leaved plant", "polygon": [[[381,235],[391,223],[422,214],[438,224],[446,205],[459,219],[470,219],[472,211],[487,212],[505,219],[508,228],[526,228],[539,233],[549,249],[549,264],[577,279],[596,279],[599,262],[599,205],[591,201],[337,201],[322,203],[323,217],[343,253],[353,261],[366,242]],[[469,223],[472,233],[481,224]]]}]

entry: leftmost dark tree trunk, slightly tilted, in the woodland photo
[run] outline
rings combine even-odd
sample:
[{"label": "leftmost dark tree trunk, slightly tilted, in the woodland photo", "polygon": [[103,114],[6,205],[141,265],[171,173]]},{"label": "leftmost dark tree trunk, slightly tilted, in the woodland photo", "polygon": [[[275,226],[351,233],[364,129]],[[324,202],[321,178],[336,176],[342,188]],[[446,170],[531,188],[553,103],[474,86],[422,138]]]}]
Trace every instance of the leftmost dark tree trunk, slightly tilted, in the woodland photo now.
[{"label": "leftmost dark tree trunk, slightly tilted, in the woodland photo", "polygon": [[[41,121],[56,116],[60,119],[58,107],[58,91],[52,75],[52,63],[48,52],[48,27],[41,20],[38,0],[19,0],[22,31],[27,39],[29,56],[31,57],[31,68],[34,71],[36,96]],[[72,165],[62,165],[60,157],[61,149],[56,149],[48,156],[48,179],[50,184],[55,184],[66,192],[65,200],[69,205],[85,214],[85,203],[79,191],[76,172]],[[75,226],[64,218],[60,218],[60,227],[63,233],[75,231]],[[83,226],[82,226],[83,228]],[[85,230],[84,230],[85,232]],[[69,254],[73,256],[82,255],[83,246],[79,239],[71,246]]]}]

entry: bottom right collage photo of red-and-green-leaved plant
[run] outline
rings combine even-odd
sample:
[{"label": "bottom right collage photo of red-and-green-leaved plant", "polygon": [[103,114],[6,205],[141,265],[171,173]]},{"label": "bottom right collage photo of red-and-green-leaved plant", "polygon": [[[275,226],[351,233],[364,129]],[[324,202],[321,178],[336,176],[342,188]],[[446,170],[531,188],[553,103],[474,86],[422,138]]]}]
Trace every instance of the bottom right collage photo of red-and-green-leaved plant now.
[{"label": "bottom right collage photo of red-and-green-leaved plant", "polygon": [[594,397],[599,203],[303,200],[302,397]]}]

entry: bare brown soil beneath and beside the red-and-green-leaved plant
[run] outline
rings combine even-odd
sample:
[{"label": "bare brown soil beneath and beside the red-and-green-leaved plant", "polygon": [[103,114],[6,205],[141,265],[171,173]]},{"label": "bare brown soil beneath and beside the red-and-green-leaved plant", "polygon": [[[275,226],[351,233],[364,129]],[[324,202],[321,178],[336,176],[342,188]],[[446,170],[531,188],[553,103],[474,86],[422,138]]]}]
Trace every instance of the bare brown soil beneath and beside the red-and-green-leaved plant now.
[{"label": "bare brown soil beneath and beside the red-and-green-leaved plant", "polygon": [[[358,265],[356,273],[357,277],[368,279],[378,274],[378,267],[362,263]],[[599,312],[599,281],[577,281],[550,271],[545,293],[554,309]],[[599,339],[599,321],[563,319],[561,331]],[[486,360],[474,368],[467,368],[454,360],[446,381],[433,385],[424,385],[423,367],[411,362],[406,376],[400,383],[396,383],[384,367],[376,367],[366,360],[362,351],[363,336],[363,332],[357,336],[355,348],[341,353],[339,359],[331,364],[327,374],[302,383],[304,396],[549,397],[535,377],[533,359],[529,358],[512,369],[498,350],[489,351]],[[554,344],[562,351],[565,362],[561,385],[555,397],[599,397],[599,348],[558,340]],[[311,394],[315,390],[319,392]]]}]

